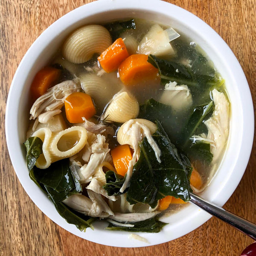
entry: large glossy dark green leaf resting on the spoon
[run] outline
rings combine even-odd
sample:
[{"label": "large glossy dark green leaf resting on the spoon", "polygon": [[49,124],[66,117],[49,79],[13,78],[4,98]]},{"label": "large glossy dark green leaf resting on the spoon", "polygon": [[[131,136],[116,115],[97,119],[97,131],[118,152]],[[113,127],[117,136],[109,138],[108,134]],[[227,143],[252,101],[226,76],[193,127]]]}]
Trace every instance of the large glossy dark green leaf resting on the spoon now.
[{"label": "large glossy dark green leaf resting on the spoon", "polygon": [[157,122],[157,131],[152,135],[160,148],[161,163],[146,138],[140,144],[140,157],[134,166],[126,200],[154,207],[157,200],[167,195],[189,201],[189,178],[192,168],[180,157],[170,142],[162,125]]}]

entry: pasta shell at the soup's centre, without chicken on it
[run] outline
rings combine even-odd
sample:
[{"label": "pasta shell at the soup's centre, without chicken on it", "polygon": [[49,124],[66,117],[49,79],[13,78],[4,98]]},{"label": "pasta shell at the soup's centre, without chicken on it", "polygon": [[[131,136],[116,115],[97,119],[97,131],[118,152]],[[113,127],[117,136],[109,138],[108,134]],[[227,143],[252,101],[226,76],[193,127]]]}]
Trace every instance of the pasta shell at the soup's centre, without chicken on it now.
[{"label": "pasta shell at the soup's centre, without chicken on it", "polygon": [[139,114],[139,104],[130,93],[116,93],[113,96],[112,102],[105,111],[104,118],[113,121],[124,123],[130,119],[134,119]]}]

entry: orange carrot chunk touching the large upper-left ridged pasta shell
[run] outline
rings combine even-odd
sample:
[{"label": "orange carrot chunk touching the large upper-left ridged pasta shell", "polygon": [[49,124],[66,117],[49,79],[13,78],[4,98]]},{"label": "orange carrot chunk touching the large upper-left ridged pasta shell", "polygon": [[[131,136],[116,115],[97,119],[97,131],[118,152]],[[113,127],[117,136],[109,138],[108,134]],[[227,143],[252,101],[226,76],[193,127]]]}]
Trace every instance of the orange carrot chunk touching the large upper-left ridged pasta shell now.
[{"label": "orange carrot chunk touching the large upper-left ridged pasta shell", "polygon": [[123,60],[129,56],[122,38],[116,39],[108,49],[98,57],[102,68],[110,73],[116,71]]}]

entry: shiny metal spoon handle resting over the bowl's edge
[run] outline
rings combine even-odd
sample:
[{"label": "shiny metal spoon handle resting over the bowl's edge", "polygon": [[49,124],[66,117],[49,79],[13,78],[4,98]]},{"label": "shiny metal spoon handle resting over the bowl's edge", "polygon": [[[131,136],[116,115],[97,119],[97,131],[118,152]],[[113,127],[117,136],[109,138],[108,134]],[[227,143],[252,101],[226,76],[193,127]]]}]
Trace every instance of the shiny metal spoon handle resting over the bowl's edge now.
[{"label": "shiny metal spoon handle resting over the bowl's edge", "polygon": [[191,203],[197,205],[209,214],[221,219],[222,221],[225,221],[227,224],[230,224],[245,235],[250,236],[250,238],[256,240],[256,224],[253,224],[250,221],[247,221],[231,212],[228,212],[218,205],[206,201],[198,195],[190,193],[190,197]]}]

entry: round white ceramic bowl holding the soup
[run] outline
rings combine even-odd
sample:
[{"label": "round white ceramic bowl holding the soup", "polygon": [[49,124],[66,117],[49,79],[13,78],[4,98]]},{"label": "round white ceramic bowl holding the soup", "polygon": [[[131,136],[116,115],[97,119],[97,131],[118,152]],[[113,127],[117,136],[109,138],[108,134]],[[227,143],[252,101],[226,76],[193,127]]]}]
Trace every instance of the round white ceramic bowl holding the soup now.
[{"label": "round white ceramic bowl holding the soup", "polygon": [[[205,189],[202,197],[222,206],[232,195],[249,160],[253,143],[253,104],[244,73],[233,52],[220,36],[195,15],[160,0],[99,0],[81,6],[61,17],[32,44],[15,73],[6,108],[6,140],[9,154],[20,183],[35,204],[49,217],[69,232],[99,244],[118,247],[148,246],[142,241],[128,239],[129,233],[104,230],[96,224],[95,230],[80,232],[68,224],[55,210],[47,196],[30,180],[23,142],[27,129],[29,110],[27,99],[35,73],[40,70],[60,47],[64,38],[74,29],[87,23],[139,17],[154,20],[182,31],[197,42],[213,61],[226,80],[231,102],[230,136],[217,174]],[[235,114],[234,114],[235,113]],[[160,233],[140,233],[150,245],[160,244],[189,233],[202,225],[210,215],[193,205],[166,218],[170,224]]]}]

